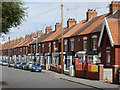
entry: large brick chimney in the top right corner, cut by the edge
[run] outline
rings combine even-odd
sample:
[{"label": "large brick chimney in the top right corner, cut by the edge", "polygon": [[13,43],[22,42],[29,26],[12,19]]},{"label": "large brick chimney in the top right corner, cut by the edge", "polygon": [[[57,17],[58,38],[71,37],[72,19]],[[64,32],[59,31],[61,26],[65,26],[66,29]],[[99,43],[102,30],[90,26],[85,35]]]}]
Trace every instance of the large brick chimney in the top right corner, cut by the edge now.
[{"label": "large brick chimney in the top right corner, cut by the edge", "polygon": [[109,5],[110,14],[114,13],[116,10],[120,10],[120,1],[112,1]]}]

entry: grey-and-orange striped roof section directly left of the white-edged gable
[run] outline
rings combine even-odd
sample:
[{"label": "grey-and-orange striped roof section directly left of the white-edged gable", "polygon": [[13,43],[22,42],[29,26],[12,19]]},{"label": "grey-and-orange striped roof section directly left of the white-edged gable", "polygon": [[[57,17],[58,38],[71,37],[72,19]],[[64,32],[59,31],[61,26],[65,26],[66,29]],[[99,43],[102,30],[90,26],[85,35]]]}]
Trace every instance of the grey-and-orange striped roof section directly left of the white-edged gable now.
[{"label": "grey-and-orange striped roof section directly left of the white-edged gable", "polygon": [[76,32],[74,32],[71,36],[100,32],[102,29],[104,17],[106,16],[108,16],[108,14],[104,14],[104,15],[92,18],[91,20],[86,22],[84,25],[82,25],[82,27],[76,30]]}]

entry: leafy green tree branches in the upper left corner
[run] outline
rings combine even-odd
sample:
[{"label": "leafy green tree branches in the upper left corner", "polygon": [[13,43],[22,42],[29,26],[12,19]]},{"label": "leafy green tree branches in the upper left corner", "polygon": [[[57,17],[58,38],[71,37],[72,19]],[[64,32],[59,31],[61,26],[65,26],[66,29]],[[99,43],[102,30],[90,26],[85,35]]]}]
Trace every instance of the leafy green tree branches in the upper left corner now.
[{"label": "leafy green tree branches in the upper left corner", "polygon": [[27,8],[22,2],[0,2],[2,10],[2,30],[0,33],[9,32],[10,28],[21,25],[27,16]]}]

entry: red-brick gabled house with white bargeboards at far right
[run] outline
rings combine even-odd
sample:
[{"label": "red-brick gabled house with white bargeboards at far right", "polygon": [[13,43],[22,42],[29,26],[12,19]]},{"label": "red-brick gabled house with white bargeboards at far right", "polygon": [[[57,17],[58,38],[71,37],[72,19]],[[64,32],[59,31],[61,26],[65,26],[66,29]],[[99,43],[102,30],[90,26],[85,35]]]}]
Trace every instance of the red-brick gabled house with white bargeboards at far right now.
[{"label": "red-brick gabled house with white bargeboards at far right", "polygon": [[106,68],[120,65],[120,10],[104,19],[103,29],[99,39],[101,47],[101,62]]}]

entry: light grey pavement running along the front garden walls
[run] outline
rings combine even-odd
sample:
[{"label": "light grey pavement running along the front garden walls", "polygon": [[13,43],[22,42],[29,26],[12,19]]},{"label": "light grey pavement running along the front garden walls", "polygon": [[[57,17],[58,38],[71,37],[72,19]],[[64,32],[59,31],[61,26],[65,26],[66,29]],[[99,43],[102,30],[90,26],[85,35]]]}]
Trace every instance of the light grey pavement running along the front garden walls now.
[{"label": "light grey pavement running along the front garden walls", "polygon": [[97,88],[97,89],[104,89],[104,90],[105,89],[112,89],[112,90],[120,89],[120,85],[118,84],[106,83],[106,82],[99,81],[99,80],[90,80],[90,79],[84,79],[84,78],[71,77],[71,76],[60,74],[60,73],[50,71],[50,70],[43,70],[43,72],[49,75],[52,75],[56,78],[62,79],[62,80],[67,80],[70,82],[90,86],[90,87]]}]

